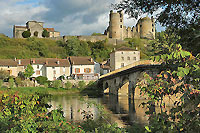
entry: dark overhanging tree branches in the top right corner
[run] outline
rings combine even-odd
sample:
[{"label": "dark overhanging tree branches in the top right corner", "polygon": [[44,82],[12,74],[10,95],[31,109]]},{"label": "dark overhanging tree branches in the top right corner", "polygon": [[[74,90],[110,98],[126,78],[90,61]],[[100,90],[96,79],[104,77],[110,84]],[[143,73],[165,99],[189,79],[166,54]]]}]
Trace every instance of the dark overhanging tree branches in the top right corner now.
[{"label": "dark overhanging tree branches in the top right corner", "polygon": [[200,9],[198,0],[123,0],[114,5],[115,9],[125,10],[130,17],[138,18],[145,13],[157,14],[157,21],[176,33],[184,49],[197,55],[200,50]]}]

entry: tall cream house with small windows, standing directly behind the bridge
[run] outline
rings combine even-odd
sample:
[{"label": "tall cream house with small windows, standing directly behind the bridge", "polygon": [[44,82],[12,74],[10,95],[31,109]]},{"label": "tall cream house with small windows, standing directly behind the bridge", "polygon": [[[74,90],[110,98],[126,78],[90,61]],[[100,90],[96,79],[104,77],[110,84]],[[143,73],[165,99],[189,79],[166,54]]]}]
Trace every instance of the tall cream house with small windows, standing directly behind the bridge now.
[{"label": "tall cream house with small windows, standing directly behind the bridge", "polygon": [[110,54],[111,71],[125,67],[140,60],[140,51],[121,47]]}]

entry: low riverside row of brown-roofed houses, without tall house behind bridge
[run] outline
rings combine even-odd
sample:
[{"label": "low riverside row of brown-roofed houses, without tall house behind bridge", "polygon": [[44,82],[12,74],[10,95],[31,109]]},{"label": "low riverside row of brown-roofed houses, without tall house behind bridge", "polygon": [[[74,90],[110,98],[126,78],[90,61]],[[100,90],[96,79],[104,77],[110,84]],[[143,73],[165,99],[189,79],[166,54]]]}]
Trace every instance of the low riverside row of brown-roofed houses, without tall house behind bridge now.
[{"label": "low riverside row of brown-roofed houses, without tall house behind bridge", "polygon": [[91,57],[0,59],[0,69],[14,77],[24,72],[28,64],[34,69],[32,77],[45,76],[51,81],[60,76],[81,80],[95,80],[99,77],[97,63]]}]

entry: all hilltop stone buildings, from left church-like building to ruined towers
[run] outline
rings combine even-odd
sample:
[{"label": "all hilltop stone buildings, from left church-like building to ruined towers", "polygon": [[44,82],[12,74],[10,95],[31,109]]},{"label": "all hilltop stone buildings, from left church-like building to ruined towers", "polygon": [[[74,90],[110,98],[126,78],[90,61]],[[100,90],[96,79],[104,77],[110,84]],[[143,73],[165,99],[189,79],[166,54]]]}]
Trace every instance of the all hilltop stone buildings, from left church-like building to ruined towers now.
[{"label": "all hilltop stone buildings, from left church-like building to ruined towers", "polygon": [[[124,26],[124,14],[122,11],[113,12],[110,11],[109,26],[105,30],[104,34],[98,36],[76,36],[81,41],[103,41],[108,40],[109,44],[117,45],[123,44],[125,38],[146,38],[155,39],[155,20],[153,18],[144,17],[138,20],[136,26],[126,27]],[[50,33],[50,38],[56,40],[67,41],[71,36],[60,36],[60,32],[54,30],[54,28],[43,28],[43,22],[28,21],[26,26],[15,26],[13,29],[14,38],[23,38],[22,33],[26,30],[30,30],[31,37],[38,33],[37,37],[42,38],[42,32],[46,29]]]}]

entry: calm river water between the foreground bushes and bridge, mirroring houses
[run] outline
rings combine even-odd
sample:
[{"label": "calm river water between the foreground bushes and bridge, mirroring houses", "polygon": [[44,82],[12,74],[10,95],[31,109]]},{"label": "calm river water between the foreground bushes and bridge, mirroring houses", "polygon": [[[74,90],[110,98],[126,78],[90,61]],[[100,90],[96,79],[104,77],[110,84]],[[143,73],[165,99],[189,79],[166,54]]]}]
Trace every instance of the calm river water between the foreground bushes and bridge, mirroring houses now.
[{"label": "calm river water between the foreground bushes and bridge, mirroring houses", "polygon": [[50,110],[57,109],[61,105],[67,120],[82,121],[84,111],[93,114],[93,119],[98,117],[99,111],[96,106],[88,107],[88,103],[92,102],[103,105],[104,110],[110,115],[110,121],[117,122],[119,127],[148,123],[148,117],[145,116],[146,109],[139,106],[145,100],[131,100],[127,96],[104,95],[101,98],[89,98],[80,95],[53,95],[49,104],[52,105]]}]

